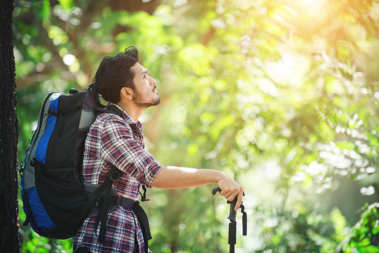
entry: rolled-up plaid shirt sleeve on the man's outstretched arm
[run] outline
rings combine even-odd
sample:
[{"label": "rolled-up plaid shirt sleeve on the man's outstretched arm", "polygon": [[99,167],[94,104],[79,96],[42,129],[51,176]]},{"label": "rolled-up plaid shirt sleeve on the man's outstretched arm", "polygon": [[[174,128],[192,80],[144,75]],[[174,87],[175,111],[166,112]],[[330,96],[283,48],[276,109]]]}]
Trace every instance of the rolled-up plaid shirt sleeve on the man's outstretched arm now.
[{"label": "rolled-up plaid shirt sleeve on the man's outstretched arm", "polygon": [[147,188],[163,167],[133,139],[131,127],[121,118],[103,124],[100,156]]}]

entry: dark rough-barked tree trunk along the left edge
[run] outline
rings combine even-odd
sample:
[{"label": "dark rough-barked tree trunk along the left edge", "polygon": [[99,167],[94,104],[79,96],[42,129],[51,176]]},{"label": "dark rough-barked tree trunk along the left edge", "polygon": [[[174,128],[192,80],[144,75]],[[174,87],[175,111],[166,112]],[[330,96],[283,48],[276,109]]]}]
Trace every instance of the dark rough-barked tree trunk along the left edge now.
[{"label": "dark rough-barked tree trunk along the left edge", "polygon": [[19,252],[13,0],[0,0],[0,252]]}]

